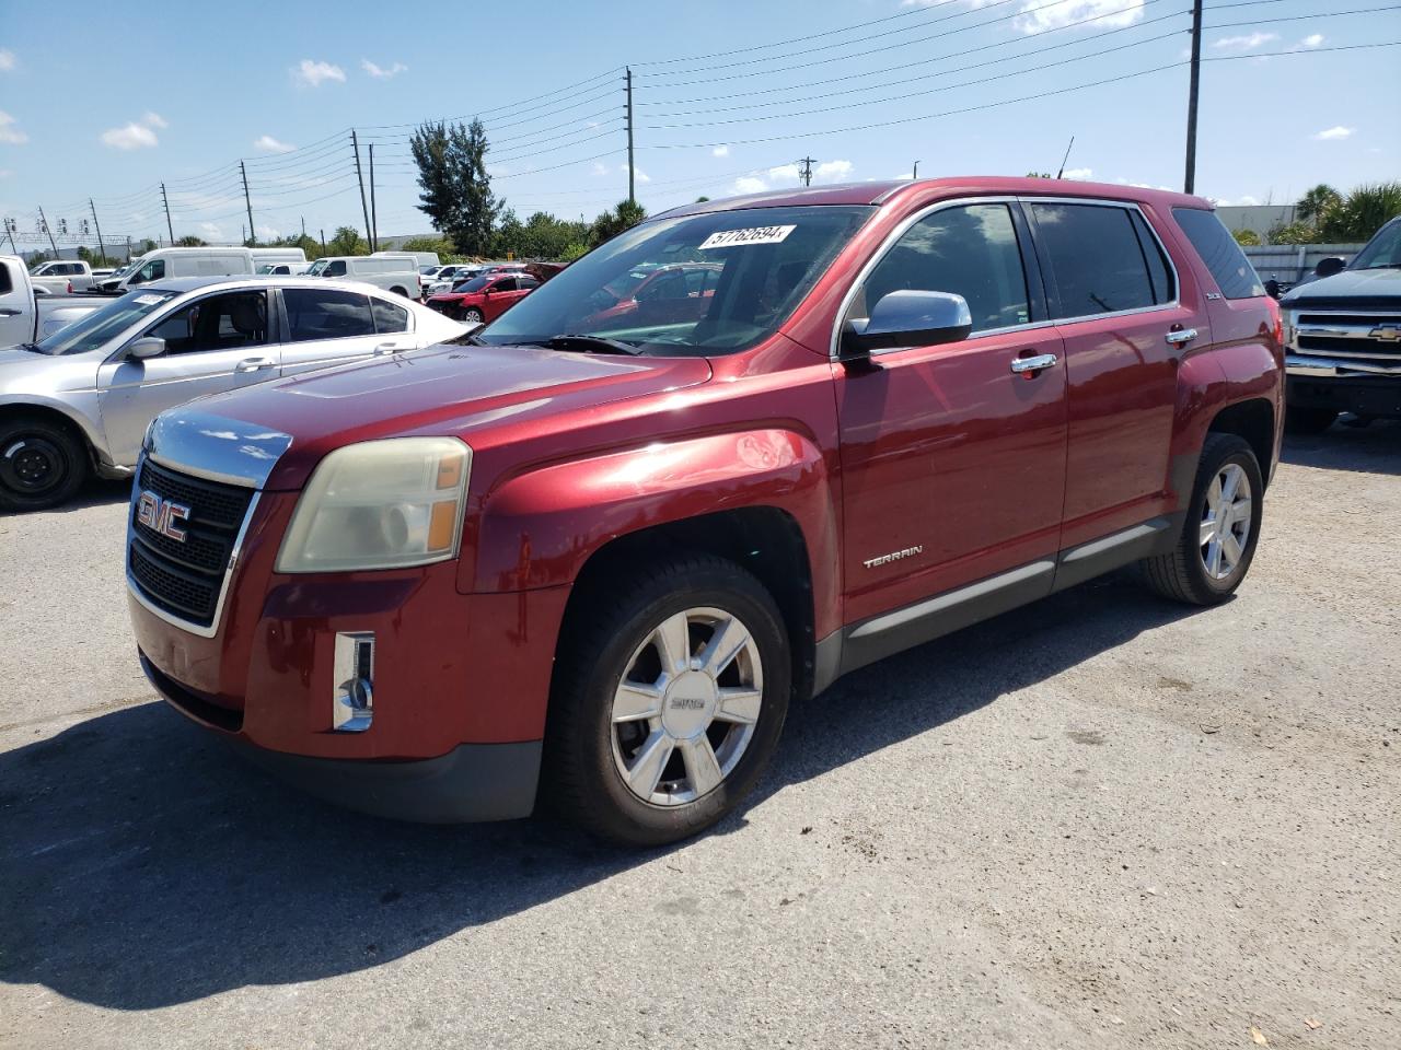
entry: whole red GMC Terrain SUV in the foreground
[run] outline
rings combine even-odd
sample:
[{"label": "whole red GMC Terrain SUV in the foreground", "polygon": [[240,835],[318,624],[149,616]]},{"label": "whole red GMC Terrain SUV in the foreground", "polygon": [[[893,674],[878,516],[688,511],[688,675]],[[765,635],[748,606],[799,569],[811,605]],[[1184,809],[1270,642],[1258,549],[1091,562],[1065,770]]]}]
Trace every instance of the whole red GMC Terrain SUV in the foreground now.
[{"label": "whole red GMC Terrain SUV in the foreground", "polygon": [[[703,309],[607,315],[628,274],[693,262]],[[1131,563],[1224,601],[1282,364],[1198,197],[965,178],[688,204],[458,344],[158,417],[126,545],[140,661],[347,806],[497,819],[544,792],[675,840],[855,668]]]}]

